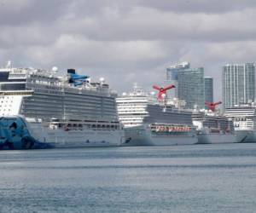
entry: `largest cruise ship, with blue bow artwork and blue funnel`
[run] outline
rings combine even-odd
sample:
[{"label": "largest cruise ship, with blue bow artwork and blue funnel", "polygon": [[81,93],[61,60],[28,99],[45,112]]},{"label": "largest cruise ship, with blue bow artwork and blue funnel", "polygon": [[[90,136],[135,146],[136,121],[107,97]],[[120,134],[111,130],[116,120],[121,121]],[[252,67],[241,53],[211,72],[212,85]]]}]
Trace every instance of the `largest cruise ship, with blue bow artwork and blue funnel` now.
[{"label": "largest cruise ship, with blue bow artwork and blue funnel", "polygon": [[[74,69],[0,69],[0,149],[119,146],[116,98],[102,78]],[[42,146],[43,145],[43,146]]]}]

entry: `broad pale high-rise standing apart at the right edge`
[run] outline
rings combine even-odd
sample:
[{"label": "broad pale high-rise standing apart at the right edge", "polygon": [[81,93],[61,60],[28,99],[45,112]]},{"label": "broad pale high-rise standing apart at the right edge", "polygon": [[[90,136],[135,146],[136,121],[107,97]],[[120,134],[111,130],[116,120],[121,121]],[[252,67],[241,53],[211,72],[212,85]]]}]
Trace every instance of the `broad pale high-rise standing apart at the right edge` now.
[{"label": "broad pale high-rise standing apart at the right edge", "polygon": [[224,108],[254,101],[255,66],[253,63],[227,64],[222,70]]}]

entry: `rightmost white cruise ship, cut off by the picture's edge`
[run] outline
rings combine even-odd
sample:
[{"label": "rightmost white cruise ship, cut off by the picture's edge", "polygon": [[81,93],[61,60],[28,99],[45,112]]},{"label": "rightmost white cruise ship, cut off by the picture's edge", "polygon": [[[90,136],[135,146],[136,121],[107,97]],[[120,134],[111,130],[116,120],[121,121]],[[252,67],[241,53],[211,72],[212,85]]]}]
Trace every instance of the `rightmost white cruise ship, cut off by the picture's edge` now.
[{"label": "rightmost white cruise ship, cut off by the picture's edge", "polygon": [[234,122],[236,135],[240,142],[256,142],[256,106],[253,104],[242,104],[229,107],[224,115]]}]

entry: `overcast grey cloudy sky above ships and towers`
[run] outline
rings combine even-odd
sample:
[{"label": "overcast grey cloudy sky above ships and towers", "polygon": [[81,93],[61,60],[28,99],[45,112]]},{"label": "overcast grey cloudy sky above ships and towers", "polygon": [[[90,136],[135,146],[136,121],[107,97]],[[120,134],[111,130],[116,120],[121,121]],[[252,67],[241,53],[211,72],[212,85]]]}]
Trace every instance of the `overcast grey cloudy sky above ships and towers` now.
[{"label": "overcast grey cloudy sky above ships and towers", "polygon": [[121,93],[189,61],[218,101],[222,66],[255,61],[255,20],[254,0],[0,0],[0,65],[76,68]]}]

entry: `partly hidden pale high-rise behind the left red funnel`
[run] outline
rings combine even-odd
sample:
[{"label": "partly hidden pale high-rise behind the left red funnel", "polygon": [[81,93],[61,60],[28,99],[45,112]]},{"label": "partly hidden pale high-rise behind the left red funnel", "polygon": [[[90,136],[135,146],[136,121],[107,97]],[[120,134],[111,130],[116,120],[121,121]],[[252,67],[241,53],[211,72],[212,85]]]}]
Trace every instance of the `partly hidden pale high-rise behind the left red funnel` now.
[{"label": "partly hidden pale high-rise behind the left red funnel", "polygon": [[177,72],[189,69],[189,62],[184,61],[166,68],[166,81],[167,83],[175,85],[176,88],[169,90],[168,95],[170,97],[177,97]]}]

